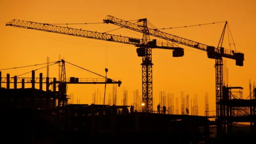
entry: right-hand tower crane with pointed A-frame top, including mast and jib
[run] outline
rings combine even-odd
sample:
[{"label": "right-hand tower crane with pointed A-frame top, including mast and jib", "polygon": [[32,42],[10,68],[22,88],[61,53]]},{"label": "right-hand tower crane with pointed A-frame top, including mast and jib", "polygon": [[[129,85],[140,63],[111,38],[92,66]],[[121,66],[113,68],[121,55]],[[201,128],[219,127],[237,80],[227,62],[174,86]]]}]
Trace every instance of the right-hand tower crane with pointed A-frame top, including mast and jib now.
[{"label": "right-hand tower crane with pointed A-frame top, including mast and jib", "polygon": [[205,45],[202,43],[198,43],[192,40],[188,40],[179,36],[175,36],[172,34],[168,34],[166,32],[162,32],[155,28],[147,28],[145,30],[144,25],[141,23],[146,23],[147,19],[139,19],[137,23],[131,23],[129,21],[125,21],[114,16],[108,15],[106,19],[103,20],[104,23],[114,24],[120,27],[125,27],[137,32],[141,32],[145,35],[155,36],[161,39],[165,39],[167,41],[171,41],[174,43],[178,43],[181,45],[190,46],[193,48],[197,48],[207,52],[207,57],[210,59],[215,59],[215,77],[216,77],[216,116],[217,119],[223,116],[224,108],[222,108],[218,103],[222,99],[222,86],[223,86],[223,57],[228,59],[236,60],[236,65],[243,66],[244,54],[241,52],[224,49],[222,47],[225,28],[227,26],[227,22],[225,23],[224,29],[222,31],[222,35],[219,41],[218,46],[215,48],[214,46]]}]

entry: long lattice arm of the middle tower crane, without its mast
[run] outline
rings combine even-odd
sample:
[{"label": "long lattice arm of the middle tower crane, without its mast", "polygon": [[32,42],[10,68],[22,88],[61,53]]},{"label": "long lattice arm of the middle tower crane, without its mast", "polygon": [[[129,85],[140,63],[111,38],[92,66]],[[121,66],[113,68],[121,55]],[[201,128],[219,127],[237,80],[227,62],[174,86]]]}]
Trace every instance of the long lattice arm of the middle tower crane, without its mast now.
[{"label": "long lattice arm of the middle tower crane, without its mast", "polygon": [[[12,21],[7,22],[6,26],[22,27],[27,29],[35,29],[35,30],[53,32],[53,33],[92,38],[97,40],[106,40],[106,41],[130,44],[135,46],[142,45],[142,40],[137,38],[106,34],[106,33],[100,33],[100,32],[94,32],[94,31],[88,31],[88,30],[82,30],[82,29],[75,29],[75,28],[69,28],[69,27],[60,27],[60,26],[54,26],[50,24],[42,24],[42,23],[16,20],[16,19],[13,19]],[[174,45],[170,45],[168,43],[157,42],[157,45],[152,48],[175,49],[177,47]]]}]

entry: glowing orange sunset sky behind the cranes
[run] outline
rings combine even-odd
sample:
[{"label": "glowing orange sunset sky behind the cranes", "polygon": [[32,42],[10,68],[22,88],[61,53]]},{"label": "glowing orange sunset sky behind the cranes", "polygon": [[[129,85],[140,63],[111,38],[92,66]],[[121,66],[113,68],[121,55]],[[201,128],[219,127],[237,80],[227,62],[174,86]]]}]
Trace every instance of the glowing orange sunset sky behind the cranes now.
[{"label": "glowing orange sunset sky behind the cranes", "polygon": [[[104,75],[104,68],[107,67],[108,77],[122,79],[121,87],[117,89],[118,103],[121,102],[123,87],[126,87],[130,105],[133,101],[133,91],[139,89],[141,94],[141,58],[137,56],[135,46],[6,27],[5,22],[20,19],[39,23],[93,23],[102,22],[106,15],[112,15],[124,20],[147,18],[154,26],[164,28],[228,21],[237,51],[245,53],[243,67],[236,66],[234,60],[224,59],[229,69],[228,84],[244,87],[243,95],[246,98],[249,94],[249,79],[256,81],[255,6],[255,0],[172,2],[168,0],[123,2],[117,0],[45,0],[40,3],[33,0],[0,1],[0,69],[45,63],[47,56],[50,57],[51,62],[57,61],[59,54],[66,61],[101,75]],[[69,27],[97,32],[117,28],[117,26],[107,24],[71,25]],[[206,45],[217,46],[223,27],[224,23],[221,23],[163,31]],[[125,29],[119,29],[110,34],[142,38],[142,34]],[[226,35],[224,39],[226,49],[229,49],[228,44]],[[180,98],[183,90],[185,95],[190,95],[190,98],[198,94],[199,115],[203,115],[204,95],[208,92],[210,111],[215,110],[215,61],[207,59],[204,51],[180,46],[185,49],[185,52],[184,56],[179,58],[173,58],[170,50],[152,50],[154,104],[158,103],[160,91],[172,92],[175,97]],[[5,70],[2,71],[2,76],[5,77],[6,73],[10,73],[11,76],[19,75],[39,67]],[[37,77],[40,72],[46,76],[46,69],[36,71]],[[67,77],[96,77],[96,75],[70,65],[66,66],[66,73]],[[50,67],[49,75],[58,77],[57,65]],[[31,77],[31,74],[24,75],[24,77]],[[75,99],[80,99],[80,103],[91,103],[95,89],[99,89],[102,95],[104,85],[69,85],[68,94],[74,92]],[[111,90],[112,85],[108,85],[107,93]],[[210,115],[213,114],[215,115],[215,113],[210,113]]]}]

